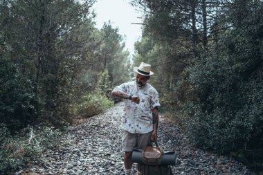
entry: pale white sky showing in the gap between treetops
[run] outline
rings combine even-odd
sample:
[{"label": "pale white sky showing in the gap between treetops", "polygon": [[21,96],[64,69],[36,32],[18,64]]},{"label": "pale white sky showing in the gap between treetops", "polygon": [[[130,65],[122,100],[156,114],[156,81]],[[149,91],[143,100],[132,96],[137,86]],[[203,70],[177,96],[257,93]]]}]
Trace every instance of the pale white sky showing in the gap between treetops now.
[{"label": "pale white sky showing in the gap between treetops", "polygon": [[142,23],[142,19],[129,0],[98,0],[93,9],[97,14],[96,27],[100,29],[105,22],[111,21],[111,26],[118,28],[123,36],[130,56],[134,54],[134,43],[140,40],[142,26],[131,23]]}]

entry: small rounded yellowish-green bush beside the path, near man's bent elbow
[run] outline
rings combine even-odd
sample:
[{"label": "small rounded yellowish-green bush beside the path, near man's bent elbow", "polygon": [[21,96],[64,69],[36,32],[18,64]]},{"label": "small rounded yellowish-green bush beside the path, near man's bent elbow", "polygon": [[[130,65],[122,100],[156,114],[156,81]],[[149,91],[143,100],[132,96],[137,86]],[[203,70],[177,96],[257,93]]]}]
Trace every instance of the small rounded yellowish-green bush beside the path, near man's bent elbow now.
[{"label": "small rounded yellowish-green bush beside the path, near man's bent elbow", "polygon": [[73,106],[72,111],[74,116],[88,118],[102,113],[112,107],[114,102],[102,95],[100,91],[93,91],[86,93],[80,100]]}]

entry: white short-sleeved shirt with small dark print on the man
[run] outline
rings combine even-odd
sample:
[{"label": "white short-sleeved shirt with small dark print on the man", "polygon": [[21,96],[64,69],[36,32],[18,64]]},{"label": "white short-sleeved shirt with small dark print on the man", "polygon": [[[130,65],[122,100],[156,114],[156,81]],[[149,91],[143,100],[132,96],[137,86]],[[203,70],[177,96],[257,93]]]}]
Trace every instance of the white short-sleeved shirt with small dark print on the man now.
[{"label": "white short-sleeved shirt with small dark print on the man", "polygon": [[131,100],[124,100],[125,108],[121,122],[122,129],[130,133],[148,133],[152,131],[152,109],[160,106],[156,89],[148,83],[143,88],[139,88],[136,81],[133,81],[120,84],[114,90],[120,90],[130,95],[138,95],[140,98],[139,104]]}]

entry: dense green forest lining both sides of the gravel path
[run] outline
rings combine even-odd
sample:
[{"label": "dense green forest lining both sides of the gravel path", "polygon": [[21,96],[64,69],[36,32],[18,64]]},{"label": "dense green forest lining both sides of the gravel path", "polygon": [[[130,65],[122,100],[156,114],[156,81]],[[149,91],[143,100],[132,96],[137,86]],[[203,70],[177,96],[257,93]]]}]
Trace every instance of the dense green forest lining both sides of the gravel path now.
[{"label": "dense green forest lining both sides of the gravel path", "polygon": [[263,168],[263,1],[132,0],[144,14],[132,60],[118,28],[95,27],[94,3],[0,1],[0,172],[111,107],[140,62],[152,64],[161,113],[196,147]]}]

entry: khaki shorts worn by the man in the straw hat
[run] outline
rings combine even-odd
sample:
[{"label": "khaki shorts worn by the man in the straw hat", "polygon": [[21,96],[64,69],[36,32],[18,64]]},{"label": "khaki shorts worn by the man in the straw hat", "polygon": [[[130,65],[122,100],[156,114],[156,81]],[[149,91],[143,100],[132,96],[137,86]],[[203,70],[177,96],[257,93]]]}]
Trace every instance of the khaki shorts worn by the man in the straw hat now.
[{"label": "khaki shorts worn by the man in the straw hat", "polygon": [[123,131],[123,152],[132,151],[134,147],[143,149],[146,146],[152,146],[152,131],[149,133],[129,133]]}]

